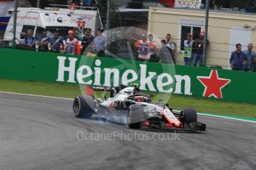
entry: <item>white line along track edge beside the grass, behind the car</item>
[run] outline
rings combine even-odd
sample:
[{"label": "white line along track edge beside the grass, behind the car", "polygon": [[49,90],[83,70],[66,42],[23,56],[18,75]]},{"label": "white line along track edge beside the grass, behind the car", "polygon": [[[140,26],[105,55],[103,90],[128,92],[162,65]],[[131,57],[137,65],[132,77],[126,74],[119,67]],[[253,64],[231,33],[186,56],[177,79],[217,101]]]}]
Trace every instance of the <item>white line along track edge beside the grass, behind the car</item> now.
[{"label": "white line along track edge beside the grass, behind the car", "polygon": [[[39,98],[56,98],[56,99],[62,99],[62,100],[73,100],[73,98],[58,98],[58,97],[53,97],[53,96],[46,96],[46,95],[30,95],[30,94],[24,94],[24,93],[17,93],[17,92],[0,92],[4,94],[11,94],[11,95],[27,95],[27,96],[34,96],[34,97],[39,97]],[[179,110],[175,110],[179,111]],[[226,119],[232,119],[232,120],[240,120],[240,121],[246,121],[250,123],[256,123],[256,121],[253,120],[244,120],[244,119],[239,119],[239,118],[229,118],[226,116],[220,116],[220,115],[209,115],[207,113],[197,113],[198,115],[205,115],[205,116],[211,116],[211,117],[217,117],[217,118],[226,118]]]}]

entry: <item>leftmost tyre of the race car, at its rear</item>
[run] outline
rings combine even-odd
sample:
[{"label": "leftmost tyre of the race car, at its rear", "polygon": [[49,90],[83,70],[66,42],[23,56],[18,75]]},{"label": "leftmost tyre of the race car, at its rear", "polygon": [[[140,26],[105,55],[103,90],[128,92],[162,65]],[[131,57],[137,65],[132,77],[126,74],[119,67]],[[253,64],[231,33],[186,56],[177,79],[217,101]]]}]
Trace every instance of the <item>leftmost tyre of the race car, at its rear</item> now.
[{"label": "leftmost tyre of the race car, at its rear", "polygon": [[73,101],[73,114],[76,118],[91,118],[95,108],[91,95],[78,95]]}]

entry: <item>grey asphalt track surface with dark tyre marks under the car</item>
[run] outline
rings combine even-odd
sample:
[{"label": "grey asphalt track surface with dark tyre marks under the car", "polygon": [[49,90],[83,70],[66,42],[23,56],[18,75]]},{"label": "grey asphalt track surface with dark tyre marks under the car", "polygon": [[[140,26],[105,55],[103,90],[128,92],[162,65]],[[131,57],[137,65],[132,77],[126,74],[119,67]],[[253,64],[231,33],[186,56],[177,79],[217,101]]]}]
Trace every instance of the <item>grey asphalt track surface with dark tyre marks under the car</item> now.
[{"label": "grey asphalt track surface with dark tyre marks under the car", "polygon": [[148,132],[71,106],[0,93],[0,169],[256,169],[256,123],[200,115],[207,132]]}]

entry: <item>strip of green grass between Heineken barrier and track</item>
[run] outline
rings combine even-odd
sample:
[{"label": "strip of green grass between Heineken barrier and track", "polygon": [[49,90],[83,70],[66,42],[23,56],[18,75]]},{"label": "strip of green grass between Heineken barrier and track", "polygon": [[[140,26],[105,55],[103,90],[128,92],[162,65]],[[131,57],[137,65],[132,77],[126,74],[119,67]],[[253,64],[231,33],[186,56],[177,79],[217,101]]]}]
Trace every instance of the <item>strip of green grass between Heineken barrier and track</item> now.
[{"label": "strip of green grass between Heineken barrier and track", "polygon": [[[19,92],[33,95],[48,95],[62,98],[74,98],[76,95],[81,93],[78,85],[42,83],[34,81],[10,81],[2,79],[0,79],[0,91]],[[159,96],[160,95],[157,97]],[[155,100],[158,99],[159,98]],[[169,105],[174,109],[181,109],[183,106],[193,106],[195,109],[197,109],[197,112],[209,112],[223,115],[256,118],[256,106],[247,103],[222,102],[180,95],[171,95]]]}]

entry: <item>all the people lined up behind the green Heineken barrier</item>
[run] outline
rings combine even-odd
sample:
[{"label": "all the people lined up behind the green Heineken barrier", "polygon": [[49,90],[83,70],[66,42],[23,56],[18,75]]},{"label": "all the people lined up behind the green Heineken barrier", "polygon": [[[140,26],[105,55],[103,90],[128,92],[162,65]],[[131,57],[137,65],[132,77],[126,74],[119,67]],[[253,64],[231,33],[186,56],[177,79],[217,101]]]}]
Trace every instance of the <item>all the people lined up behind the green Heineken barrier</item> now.
[{"label": "all the people lined up behind the green Heineken barrier", "polygon": [[[75,30],[68,31],[68,38],[63,39],[59,36],[59,30],[55,30],[53,37],[47,36],[47,30],[43,30],[42,34],[37,38],[33,37],[33,30],[27,30],[27,34],[21,33],[18,48],[23,50],[36,50],[40,52],[62,52],[70,55],[87,55],[85,50],[91,44],[89,52],[93,56],[104,57],[106,49],[106,38],[103,35],[104,30],[99,28],[94,38],[91,35],[91,29],[85,30],[85,36],[82,38],[81,45],[75,38]],[[197,65],[203,66],[203,50],[204,50],[204,32],[193,40],[191,33],[187,33],[186,40],[183,41],[184,50],[183,58],[185,66]],[[207,41],[207,45],[209,41]],[[165,39],[161,40],[161,46],[157,45],[152,34],[142,34],[140,40],[134,44],[134,50],[137,51],[139,61],[153,61],[165,64],[176,64],[175,54],[176,44],[171,41],[171,34],[167,34]],[[253,44],[248,44],[248,50],[242,51],[242,45],[236,44],[236,49],[232,52],[229,64],[232,70],[237,71],[256,71],[256,52],[254,52]]]}]

